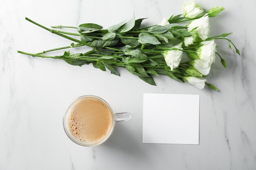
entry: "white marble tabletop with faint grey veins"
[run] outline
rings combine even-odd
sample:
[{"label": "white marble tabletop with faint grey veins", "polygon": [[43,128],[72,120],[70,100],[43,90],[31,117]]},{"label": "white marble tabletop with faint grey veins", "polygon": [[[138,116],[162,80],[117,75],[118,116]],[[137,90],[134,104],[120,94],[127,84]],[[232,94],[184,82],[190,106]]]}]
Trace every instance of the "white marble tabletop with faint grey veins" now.
[{"label": "white marble tabletop with faint grey veins", "polygon": [[[219,59],[210,81],[219,92],[199,90],[168,77],[150,86],[124,69],[121,77],[93,68],[28,57],[71,42],[29,22],[45,26],[84,22],[111,26],[149,17],[148,24],[182,13],[183,1],[171,0],[1,0],[0,2],[0,170],[255,170],[256,48],[255,0],[197,0],[209,9],[226,10],[211,18],[211,34],[233,31],[241,58],[217,41],[228,64]],[[78,51],[85,51],[80,48]],[[73,50],[74,51],[74,50]],[[143,93],[200,95],[200,145],[142,144]],[[65,135],[62,117],[81,95],[98,95],[131,121],[118,123],[105,144],[86,148]]]}]

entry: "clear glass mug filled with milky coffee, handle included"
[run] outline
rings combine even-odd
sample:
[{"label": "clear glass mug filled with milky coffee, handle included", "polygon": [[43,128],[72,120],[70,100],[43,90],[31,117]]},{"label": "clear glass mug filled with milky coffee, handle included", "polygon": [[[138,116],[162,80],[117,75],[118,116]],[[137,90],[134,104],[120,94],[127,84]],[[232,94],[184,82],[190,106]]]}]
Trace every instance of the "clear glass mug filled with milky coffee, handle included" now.
[{"label": "clear glass mug filled with milky coffee, handle included", "polygon": [[63,117],[67,136],[81,146],[97,146],[112,134],[116,121],[127,121],[131,113],[113,113],[100,97],[85,95],[75,99]]}]

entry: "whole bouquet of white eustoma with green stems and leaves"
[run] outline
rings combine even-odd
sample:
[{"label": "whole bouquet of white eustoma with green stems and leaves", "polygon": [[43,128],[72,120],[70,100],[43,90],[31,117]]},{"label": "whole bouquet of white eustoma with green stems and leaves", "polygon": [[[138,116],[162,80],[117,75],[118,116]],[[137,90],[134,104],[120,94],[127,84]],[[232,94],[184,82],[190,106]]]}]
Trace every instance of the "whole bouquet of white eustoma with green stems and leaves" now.
[{"label": "whole bouquet of white eustoma with green stems and leaves", "polygon": [[[172,15],[168,20],[163,18],[159,24],[145,28],[141,28],[141,22],[146,18],[136,20],[134,14],[128,22],[120,22],[107,29],[93,23],[81,24],[78,27],[58,25],[49,29],[26,18],[29,22],[76,44],[41,53],[18,53],[60,59],[75,66],[92,63],[95,68],[102,71],[107,68],[118,76],[115,67],[124,67],[151,85],[156,85],[153,76],[167,75],[178,82],[188,82],[200,89],[207,84],[209,88],[217,91],[215,86],[207,82],[211,64],[215,62],[216,56],[220,57],[225,68],[227,64],[217,52],[214,40],[227,40],[229,48],[234,46],[236,53],[240,55],[233,42],[225,38],[231,33],[209,36],[209,17],[215,17],[223,10],[223,7],[214,7],[205,12],[193,0],[187,0],[183,14]],[[75,29],[78,33],[61,31],[63,28]],[[71,54],[70,51],[65,51],[59,56],[45,55],[51,51],[81,46],[92,49],[85,53]],[[181,62],[182,58],[186,62]]]}]

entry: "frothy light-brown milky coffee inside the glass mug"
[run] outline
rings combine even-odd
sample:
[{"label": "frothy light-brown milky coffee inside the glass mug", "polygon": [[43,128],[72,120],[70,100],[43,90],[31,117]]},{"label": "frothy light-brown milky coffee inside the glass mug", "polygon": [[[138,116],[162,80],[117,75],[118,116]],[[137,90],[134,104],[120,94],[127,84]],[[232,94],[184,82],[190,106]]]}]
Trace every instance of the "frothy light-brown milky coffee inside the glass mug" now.
[{"label": "frothy light-brown milky coffee inside the glass mug", "polygon": [[108,136],[112,129],[112,112],[98,98],[82,97],[72,103],[68,112],[69,132],[82,144],[98,144]]}]

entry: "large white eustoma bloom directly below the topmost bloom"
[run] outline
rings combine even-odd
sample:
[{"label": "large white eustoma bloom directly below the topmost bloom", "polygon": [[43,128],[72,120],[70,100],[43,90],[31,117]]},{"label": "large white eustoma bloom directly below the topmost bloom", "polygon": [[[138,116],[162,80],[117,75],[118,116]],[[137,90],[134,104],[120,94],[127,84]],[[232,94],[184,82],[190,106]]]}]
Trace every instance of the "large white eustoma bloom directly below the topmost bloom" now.
[{"label": "large white eustoma bloom directly below the topmost bloom", "polygon": [[[209,16],[205,14],[201,18],[192,20],[187,25],[187,27],[188,27],[188,31],[191,32],[192,35],[197,34],[202,40],[206,40],[209,37],[209,33],[210,33]],[[196,27],[197,29],[194,29]]]}]

